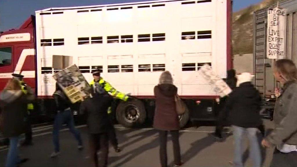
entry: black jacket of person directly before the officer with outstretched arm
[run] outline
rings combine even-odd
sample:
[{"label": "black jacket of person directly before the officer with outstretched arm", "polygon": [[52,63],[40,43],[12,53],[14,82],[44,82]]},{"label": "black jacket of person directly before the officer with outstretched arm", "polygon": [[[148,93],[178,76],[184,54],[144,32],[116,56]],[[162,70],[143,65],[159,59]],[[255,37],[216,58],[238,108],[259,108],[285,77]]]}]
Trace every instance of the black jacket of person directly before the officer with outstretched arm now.
[{"label": "black jacket of person directly before the officer with outstretched arm", "polygon": [[113,98],[108,94],[94,94],[80,105],[80,114],[86,114],[89,133],[104,133],[111,126],[107,110]]}]

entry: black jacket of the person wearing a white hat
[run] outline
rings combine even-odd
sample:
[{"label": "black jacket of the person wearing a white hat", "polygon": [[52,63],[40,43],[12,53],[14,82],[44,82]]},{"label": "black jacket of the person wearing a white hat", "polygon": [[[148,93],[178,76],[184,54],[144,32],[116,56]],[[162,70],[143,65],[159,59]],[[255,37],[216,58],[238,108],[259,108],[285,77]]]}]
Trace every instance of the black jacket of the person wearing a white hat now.
[{"label": "black jacket of the person wearing a white hat", "polygon": [[230,112],[231,125],[249,128],[262,125],[260,117],[261,98],[251,82],[244,82],[230,93],[223,112]]}]

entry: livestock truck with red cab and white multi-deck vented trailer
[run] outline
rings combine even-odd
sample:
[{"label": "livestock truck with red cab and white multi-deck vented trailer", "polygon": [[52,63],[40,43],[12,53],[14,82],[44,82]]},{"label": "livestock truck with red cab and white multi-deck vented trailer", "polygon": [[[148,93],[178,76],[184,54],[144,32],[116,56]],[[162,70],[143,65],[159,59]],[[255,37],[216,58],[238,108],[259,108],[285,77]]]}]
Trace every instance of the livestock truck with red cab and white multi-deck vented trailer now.
[{"label": "livestock truck with red cab and white multi-deck vented trailer", "polygon": [[[232,68],[231,0],[161,0],[35,12],[19,29],[0,36],[0,90],[12,73],[24,75],[37,100],[32,117],[50,121],[56,110],[53,74],[76,64],[91,81],[93,69],[133,100],[118,100],[117,121],[132,127],[152,120],[154,86],[173,74],[189,119],[213,120],[219,95],[198,70],[211,65],[221,78]],[[79,107],[79,106],[78,106]],[[74,109],[77,118],[78,109]]]}]

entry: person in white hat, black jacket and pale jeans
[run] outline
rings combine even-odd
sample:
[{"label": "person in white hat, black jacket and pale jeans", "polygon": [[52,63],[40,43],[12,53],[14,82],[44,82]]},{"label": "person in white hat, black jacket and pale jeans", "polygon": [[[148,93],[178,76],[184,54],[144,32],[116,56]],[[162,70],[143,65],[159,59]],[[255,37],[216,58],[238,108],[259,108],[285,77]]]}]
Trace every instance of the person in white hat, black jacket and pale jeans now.
[{"label": "person in white hat, black jacket and pale jeans", "polygon": [[241,73],[237,75],[237,87],[229,94],[224,112],[229,112],[229,121],[233,128],[234,160],[233,166],[243,167],[243,138],[247,133],[249,139],[249,155],[253,166],[261,166],[260,143],[257,138],[258,127],[262,125],[260,117],[260,93],[252,84],[254,75]]}]

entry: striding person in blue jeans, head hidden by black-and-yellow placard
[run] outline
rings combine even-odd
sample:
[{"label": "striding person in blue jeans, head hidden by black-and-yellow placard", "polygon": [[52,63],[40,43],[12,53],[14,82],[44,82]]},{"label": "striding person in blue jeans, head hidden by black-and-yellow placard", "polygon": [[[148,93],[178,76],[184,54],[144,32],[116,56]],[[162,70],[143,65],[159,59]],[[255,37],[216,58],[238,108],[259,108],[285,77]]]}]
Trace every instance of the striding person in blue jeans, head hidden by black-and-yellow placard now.
[{"label": "striding person in blue jeans, head hidden by black-and-yellow placard", "polygon": [[71,111],[71,102],[64,94],[58,83],[56,83],[56,91],[53,94],[57,113],[53,125],[53,144],[55,151],[50,155],[50,157],[56,157],[60,154],[60,144],[59,144],[59,131],[63,124],[67,124],[69,131],[74,135],[75,139],[78,141],[78,149],[83,149],[83,142],[81,140],[80,132],[75,128],[73,115]]}]

